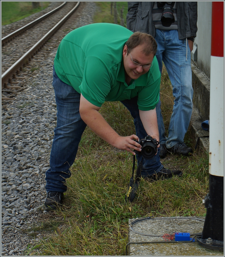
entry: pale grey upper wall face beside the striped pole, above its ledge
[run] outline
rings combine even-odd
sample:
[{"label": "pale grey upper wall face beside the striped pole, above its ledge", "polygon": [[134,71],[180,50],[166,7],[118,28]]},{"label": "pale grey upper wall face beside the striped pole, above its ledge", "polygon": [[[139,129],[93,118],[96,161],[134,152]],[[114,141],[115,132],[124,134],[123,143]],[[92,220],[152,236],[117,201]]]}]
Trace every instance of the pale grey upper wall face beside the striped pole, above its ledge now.
[{"label": "pale grey upper wall face beside the striped pole, above its ledge", "polygon": [[198,1],[197,61],[195,65],[210,78],[212,2]]}]

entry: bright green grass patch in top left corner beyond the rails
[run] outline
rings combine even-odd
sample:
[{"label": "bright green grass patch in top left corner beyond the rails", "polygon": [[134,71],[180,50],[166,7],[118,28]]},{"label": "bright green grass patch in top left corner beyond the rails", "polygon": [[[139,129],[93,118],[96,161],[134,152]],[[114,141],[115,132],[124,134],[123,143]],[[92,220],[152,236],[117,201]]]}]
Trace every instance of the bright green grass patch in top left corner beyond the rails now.
[{"label": "bright green grass patch in top left corner beyond the rails", "polygon": [[50,2],[40,2],[38,8],[32,8],[32,2],[10,2],[1,1],[2,4],[2,25],[20,21],[31,14],[44,10]]}]

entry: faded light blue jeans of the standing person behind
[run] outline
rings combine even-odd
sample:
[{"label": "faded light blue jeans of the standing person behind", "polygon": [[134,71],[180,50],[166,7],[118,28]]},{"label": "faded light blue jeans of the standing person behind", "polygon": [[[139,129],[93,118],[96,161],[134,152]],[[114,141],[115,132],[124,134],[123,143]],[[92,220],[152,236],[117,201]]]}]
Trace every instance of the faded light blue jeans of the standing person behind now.
[{"label": "faded light blue jeans of the standing person behind", "polygon": [[156,58],[159,70],[162,73],[163,61],[175,98],[168,137],[165,136],[160,101],[156,105],[160,144],[166,144],[167,148],[171,148],[179,142],[184,142],[184,136],[191,120],[193,97],[191,51],[188,42],[186,45],[186,39],[178,38],[177,30],[156,29],[155,40],[158,44]]}]

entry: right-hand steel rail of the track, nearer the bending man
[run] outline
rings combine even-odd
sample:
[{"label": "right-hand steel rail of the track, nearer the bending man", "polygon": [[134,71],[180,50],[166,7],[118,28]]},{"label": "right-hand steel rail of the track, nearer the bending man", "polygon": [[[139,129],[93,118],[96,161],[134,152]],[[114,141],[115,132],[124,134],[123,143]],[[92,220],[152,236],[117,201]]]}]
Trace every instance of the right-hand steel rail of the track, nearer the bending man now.
[{"label": "right-hand steel rail of the track, nearer the bending man", "polygon": [[34,53],[36,53],[50,38],[50,36],[54,34],[56,30],[58,30],[59,27],[73,14],[79,3],[80,2],[77,2],[76,6],[69,13],[67,13],[64,18],[62,18],[51,30],[49,30],[49,32],[47,32],[35,45],[33,45],[30,50],[28,50],[19,60],[17,60],[8,70],[2,74],[3,87],[4,84],[7,84],[8,80],[12,78],[13,74],[15,74],[24,63],[28,62],[28,60],[33,57]]}]

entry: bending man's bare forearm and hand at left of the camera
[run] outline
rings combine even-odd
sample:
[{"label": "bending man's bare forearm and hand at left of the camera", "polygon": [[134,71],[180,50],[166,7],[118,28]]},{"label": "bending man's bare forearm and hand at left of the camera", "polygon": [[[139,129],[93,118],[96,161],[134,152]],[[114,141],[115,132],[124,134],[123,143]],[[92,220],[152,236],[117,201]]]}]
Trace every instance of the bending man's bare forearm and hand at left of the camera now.
[{"label": "bending man's bare forearm and hand at left of the camera", "polygon": [[131,149],[141,151],[141,145],[133,140],[139,140],[138,136],[118,135],[98,112],[99,110],[100,107],[93,105],[82,94],[80,95],[80,117],[96,135],[112,146],[120,150],[126,150],[134,155],[135,153]]}]

